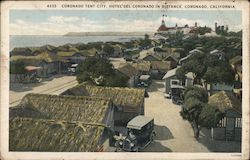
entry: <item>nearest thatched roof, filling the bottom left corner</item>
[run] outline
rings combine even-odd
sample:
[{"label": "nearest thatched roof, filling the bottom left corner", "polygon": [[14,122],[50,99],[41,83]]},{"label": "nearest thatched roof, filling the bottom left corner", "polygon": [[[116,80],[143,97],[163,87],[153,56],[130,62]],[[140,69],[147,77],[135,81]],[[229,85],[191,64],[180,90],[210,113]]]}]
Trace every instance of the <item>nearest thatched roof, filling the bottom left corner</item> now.
[{"label": "nearest thatched roof, filling the bottom left corner", "polygon": [[16,117],[10,120],[10,151],[93,152],[104,126]]}]

